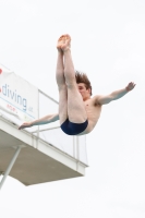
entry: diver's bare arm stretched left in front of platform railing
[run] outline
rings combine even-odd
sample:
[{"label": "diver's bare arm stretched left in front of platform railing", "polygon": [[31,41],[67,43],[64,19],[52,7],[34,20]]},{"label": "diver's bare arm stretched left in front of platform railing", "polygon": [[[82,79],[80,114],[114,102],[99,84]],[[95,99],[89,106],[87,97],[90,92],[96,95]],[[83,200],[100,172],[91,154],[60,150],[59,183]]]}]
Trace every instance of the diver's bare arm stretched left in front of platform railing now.
[{"label": "diver's bare arm stretched left in front of platform railing", "polygon": [[22,125],[20,125],[19,130],[22,130],[22,129],[25,129],[25,128],[32,128],[33,125],[44,125],[44,124],[47,124],[47,123],[55,122],[57,120],[59,120],[58,113],[49,114],[49,116],[46,116],[44,118],[39,118],[38,120],[34,120],[32,122],[23,123]]}]

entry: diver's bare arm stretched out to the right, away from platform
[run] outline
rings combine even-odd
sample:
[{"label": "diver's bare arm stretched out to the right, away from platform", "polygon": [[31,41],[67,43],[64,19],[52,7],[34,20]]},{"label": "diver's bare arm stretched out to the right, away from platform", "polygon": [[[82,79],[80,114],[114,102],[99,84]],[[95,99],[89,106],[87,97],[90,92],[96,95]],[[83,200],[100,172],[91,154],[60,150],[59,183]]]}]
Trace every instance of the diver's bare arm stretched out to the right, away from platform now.
[{"label": "diver's bare arm stretched out to the right, away from platform", "polygon": [[128,84],[125,88],[122,88],[120,90],[114,90],[107,96],[96,96],[95,101],[99,105],[109,104],[112,100],[118,100],[119,98],[122,98],[126,93],[132,90],[134,87],[135,87],[135,84],[131,82]]}]

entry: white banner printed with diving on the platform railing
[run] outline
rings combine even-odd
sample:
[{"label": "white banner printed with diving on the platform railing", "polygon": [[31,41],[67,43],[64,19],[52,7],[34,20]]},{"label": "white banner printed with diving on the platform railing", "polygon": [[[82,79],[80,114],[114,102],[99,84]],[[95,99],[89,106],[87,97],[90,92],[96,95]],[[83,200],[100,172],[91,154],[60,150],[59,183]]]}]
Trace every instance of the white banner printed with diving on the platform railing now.
[{"label": "white banner printed with diving on the platform railing", "polygon": [[1,64],[0,109],[26,122],[38,118],[38,89]]}]

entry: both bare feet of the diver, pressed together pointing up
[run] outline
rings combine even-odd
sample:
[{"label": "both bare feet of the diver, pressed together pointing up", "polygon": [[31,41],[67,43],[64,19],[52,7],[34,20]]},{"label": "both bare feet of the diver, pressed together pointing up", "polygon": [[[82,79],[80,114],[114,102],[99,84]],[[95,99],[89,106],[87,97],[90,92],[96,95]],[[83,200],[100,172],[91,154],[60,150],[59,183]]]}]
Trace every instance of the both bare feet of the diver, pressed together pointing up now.
[{"label": "both bare feet of the diver, pressed together pointing up", "polygon": [[69,50],[71,48],[71,37],[68,34],[62,35],[58,40],[57,48],[62,51]]}]

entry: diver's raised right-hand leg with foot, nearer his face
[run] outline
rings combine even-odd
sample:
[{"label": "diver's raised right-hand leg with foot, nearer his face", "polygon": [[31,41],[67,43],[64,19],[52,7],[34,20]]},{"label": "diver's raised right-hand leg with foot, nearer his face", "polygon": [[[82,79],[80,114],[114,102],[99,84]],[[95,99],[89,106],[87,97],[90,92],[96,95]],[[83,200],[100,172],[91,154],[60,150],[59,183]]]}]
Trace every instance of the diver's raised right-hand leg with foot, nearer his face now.
[{"label": "diver's raised right-hand leg with foot, nearer his face", "polygon": [[87,113],[75,81],[75,70],[71,56],[71,37],[63,35],[61,40],[61,49],[64,53],[64,78],[68,88],[68,116],[71,122],[82,123],[86,121]]}]

